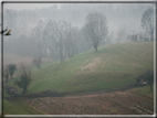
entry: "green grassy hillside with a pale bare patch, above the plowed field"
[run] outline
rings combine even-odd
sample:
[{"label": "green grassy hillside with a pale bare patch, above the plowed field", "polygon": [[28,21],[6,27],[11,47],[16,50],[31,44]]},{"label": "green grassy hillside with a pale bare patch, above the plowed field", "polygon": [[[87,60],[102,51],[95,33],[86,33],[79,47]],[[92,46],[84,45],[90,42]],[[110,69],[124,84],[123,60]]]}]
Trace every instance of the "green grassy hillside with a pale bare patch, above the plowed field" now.
[{"label": "green grassy hillside with a pale bare patch, above the plowed field", "polygon": [[[33,71],[28,94],[43,90],[59,93],[125,87],[154,68],[154,43],[130,42],[88,51],[63,63]],[[14,78],[14,79],[18,79]],[[8,85],[13,85],[13,81]]]}]

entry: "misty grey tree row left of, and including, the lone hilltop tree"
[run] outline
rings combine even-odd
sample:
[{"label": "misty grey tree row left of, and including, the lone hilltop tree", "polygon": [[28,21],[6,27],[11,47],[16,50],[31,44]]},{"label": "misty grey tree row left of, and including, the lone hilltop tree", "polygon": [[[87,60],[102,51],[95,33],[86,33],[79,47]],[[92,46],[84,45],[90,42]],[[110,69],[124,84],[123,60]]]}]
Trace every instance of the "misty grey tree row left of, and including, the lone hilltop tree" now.
[{"label": "misty grey tree row left of, and including, the lone hilltop tree", "polygon": [[[30,37],[23,35],[10,41],[15,46],[12,46],[11,51],[27,56],[56,57],[63,62],[66,57],[91,50],[92,46],[97,52],[100,42],[105,41],[107,33],[106,17],[100,12],[90,13],[81,29],[66,21],[49,20],[44,23],[40,20]],[[11,47],[6,44],[4,51],[8,49]]]}]

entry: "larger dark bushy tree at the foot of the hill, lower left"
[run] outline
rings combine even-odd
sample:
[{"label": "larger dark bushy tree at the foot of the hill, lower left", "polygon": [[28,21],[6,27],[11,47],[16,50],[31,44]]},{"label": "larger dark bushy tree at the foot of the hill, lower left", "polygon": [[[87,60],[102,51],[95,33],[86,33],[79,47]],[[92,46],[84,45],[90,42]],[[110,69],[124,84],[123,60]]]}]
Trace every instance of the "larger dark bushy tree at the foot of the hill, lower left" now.
[{"label": "larger dark bushy tree at the foot of the hill, lower left", "polygon": [[25,65],[21,65],[20,72],[21,72],[20,79],[15,81],[14,85],[18,85],[20,88],[22,88],[23,89],[22,94],[25,94],[29,85],[32,82],[31,69],[28,68]]}]

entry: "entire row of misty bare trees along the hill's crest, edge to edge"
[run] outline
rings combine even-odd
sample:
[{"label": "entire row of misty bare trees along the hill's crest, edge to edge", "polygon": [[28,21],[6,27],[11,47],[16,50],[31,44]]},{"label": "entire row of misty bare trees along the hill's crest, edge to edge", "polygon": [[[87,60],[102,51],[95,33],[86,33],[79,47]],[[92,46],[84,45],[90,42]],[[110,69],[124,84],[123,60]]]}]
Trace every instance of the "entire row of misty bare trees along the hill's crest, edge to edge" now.
[{"label": "entire row of misty bare trees along the hill's crest, edge to edge", "polygon": [[39,20],[31,35],[20,35],[8,42],[6,39],[4,52],[32,57],[60,58],[63,62],[66,57],[91,50],[92,46],[97,51],[98,45],[138,41],[139,39],[153,41],[153,19],[154,10],[149,8],[142,17],[145,35],[126,32],[126,28],[118,30],[116,37],[108,32],[106,17],[100,12],[88,13],[84,25],[80,29],[63,20]]}]

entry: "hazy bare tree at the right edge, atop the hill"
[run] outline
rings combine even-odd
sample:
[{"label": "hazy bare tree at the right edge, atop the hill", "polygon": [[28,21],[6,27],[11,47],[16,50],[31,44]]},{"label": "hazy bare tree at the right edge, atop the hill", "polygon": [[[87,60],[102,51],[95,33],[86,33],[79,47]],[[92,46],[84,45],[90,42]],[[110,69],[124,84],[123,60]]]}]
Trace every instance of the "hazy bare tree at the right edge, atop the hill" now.
[{"label": "hazy bare tree at the right edge, atop the hill", "polygon": [[154,9],[147,9],[142,17],[142,28],[154,40]]}]

